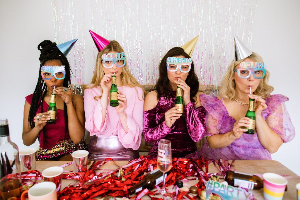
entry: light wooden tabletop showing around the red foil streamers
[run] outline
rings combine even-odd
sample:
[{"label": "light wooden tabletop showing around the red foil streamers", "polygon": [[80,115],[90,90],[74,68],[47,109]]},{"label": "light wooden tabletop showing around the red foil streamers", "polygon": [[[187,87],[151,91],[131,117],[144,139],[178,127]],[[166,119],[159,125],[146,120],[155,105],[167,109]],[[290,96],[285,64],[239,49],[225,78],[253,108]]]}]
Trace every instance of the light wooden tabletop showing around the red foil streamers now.
[{"label": "light wooden tabletop showing around the red foil streamers", "polygon": [[[36,169],[42,172],[44,169],[52,166],[61,166],[62,164],[68,163],[70,161],[37,161]],[[124,166],[128,162],[127,161],[115,161],[116,166],[113,162],[107,162],[101,169],[117,169],[119,166]],[[296,199],[296,184],[300,183],[300,177],[296,175],[294,172],[286,168],[281,163],[275,160],[236,160],[233,165],[235,166],[235,170],[237,172],[243,172],[247,174],[263,174],[266,172],[272,172],[279,175],[286,175],[286,179],[288,180],[288,190],[284,193],[283,199]],[[66,166],[64,170],[74,170],[74,166]],[[208,166],[209,173],[216,173],[218,170],[211,163]],[[223,180],[220,179],[219,182]],[[61,189],[66,187],[67,185],[73,183],[73,180],[63,179]],[[263,189],[260,190],[250,190],[256,199],[263,199]]]}]

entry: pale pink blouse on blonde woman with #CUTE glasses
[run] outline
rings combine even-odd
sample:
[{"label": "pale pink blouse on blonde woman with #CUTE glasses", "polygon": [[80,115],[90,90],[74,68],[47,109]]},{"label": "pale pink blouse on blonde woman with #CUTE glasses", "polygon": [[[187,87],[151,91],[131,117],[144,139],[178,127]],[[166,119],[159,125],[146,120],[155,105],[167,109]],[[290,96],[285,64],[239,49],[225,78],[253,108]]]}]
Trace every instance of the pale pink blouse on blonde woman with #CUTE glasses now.
[{"label": "pale pink blouse on blonde woman with #CUTE glasses", "polygon": [[91,136],[118,135],[120,142],[125,148],[137,150],[141,144],[143,130],[143,89],[140,87],[119,86],[118,90],[122,91],[127,98],[125,113],[127,115],[128,133],[123,129],[119,115],[116,109],[109,105],[109,101],[106,118],[101,123],[102,107],[100,99],[94,99],[95,96],[101,96],[99,86],[84,90],[85,128],[90,132]]}]

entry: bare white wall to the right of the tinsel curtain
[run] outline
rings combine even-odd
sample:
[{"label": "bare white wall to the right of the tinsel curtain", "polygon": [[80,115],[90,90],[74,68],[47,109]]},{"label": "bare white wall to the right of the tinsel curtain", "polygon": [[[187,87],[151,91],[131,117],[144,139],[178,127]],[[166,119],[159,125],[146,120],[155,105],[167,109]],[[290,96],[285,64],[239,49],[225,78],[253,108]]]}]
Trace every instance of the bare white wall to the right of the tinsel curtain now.
[{"label": "bare white wall to the right of the tinsel curtain", "polygon": [[272,154],[277,160],[300,175],[300,124],[299,124],[299,55],[300,55],[300,1],[258,1],[256,18],[253,21],[253,38],[250,50],[258,53],[271,73],[269,84],[272,94],[289,97],[285,103],[296,136]]}]

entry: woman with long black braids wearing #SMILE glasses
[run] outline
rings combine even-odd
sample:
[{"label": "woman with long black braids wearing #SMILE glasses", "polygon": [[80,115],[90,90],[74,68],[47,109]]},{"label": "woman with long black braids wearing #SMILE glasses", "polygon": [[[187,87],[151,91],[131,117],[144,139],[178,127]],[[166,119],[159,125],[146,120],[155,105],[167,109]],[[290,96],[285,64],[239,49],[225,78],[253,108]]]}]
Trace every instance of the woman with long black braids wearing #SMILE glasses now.
[{"label": "woman with long black braids wearing #SMILE glasses", "polygon": [[[70,65],[56,43],[44,40],[38,49],[41,64],[35,91],[25,97],[23,143],[29,146],[38,138],[40,148],[36,160],[70,160],[73,151],[87,148],[82,141],[85,132],[83,97],[72,94],[69,89]],[[65,71],[51,74],[42,72],[42,66],[64,66]],[[56,94],[56,123],[46,124],[50,120],[50,113],[46,111],[52,91]]]}]

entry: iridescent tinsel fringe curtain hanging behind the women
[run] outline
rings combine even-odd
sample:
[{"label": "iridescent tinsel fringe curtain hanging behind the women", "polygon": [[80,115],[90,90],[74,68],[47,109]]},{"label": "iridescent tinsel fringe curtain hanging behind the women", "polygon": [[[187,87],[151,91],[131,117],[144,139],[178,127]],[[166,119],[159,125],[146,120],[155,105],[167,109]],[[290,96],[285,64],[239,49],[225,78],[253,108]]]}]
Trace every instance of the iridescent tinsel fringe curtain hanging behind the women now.
[{"label": "iridescent tinsel fringe curtain hanging behind the women", "polygon": [[[182,46],[200,35],[192,55],[199,82],[219,85],[227,66],[234,59],[233,34],[251,47],[257,0],[52,0],[53,13],[56,13],[53,20],[60,40],[70,37],[62,27],[71,22],[74,28],[81,28],[81,32],[77,30],[73,34],[79,33],[82,38],[83,32],[88,34],[87,30],[82,31],[83,17],[79,16],[83,10],[79,2],[90,4],[91,30],[121,44],[131,73],[141,84],[156,83],[159,62],[169,49]],[[67,6],[63,10],[70,11],[62,12],[63,6]],[[74,48],[74,51],[81,52],[81,55],[75,54],[74,60],[81,60],[80,69],[83,69],[84,59],[77,56],[84,56],[84,39],[83,43],[77,43],[83,46]],[[93,48],[95,63],[98,50],[94,44]],[[86,73],[93,72],[90,69]],[[83,81],[82,71],[81,76]]]}]

